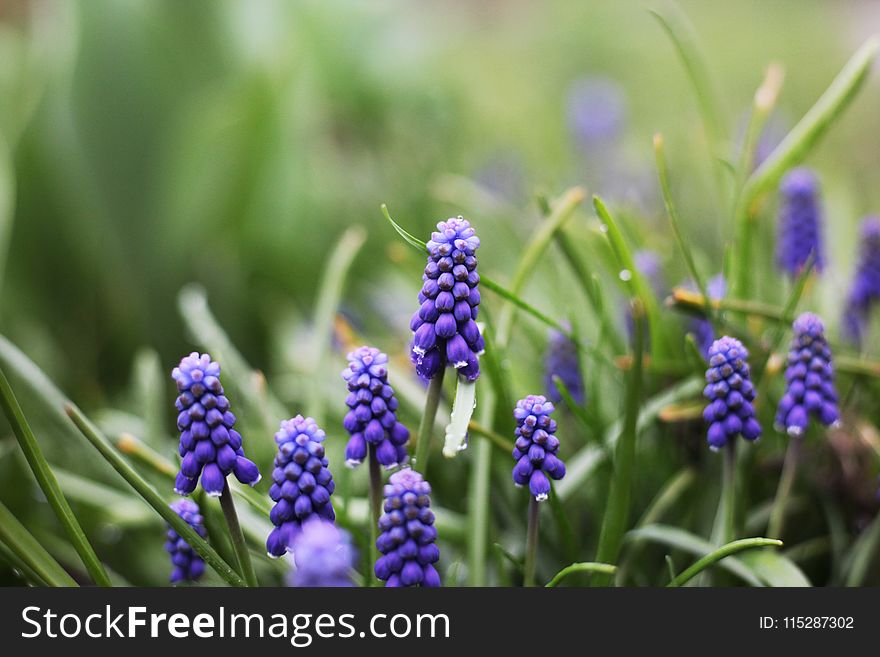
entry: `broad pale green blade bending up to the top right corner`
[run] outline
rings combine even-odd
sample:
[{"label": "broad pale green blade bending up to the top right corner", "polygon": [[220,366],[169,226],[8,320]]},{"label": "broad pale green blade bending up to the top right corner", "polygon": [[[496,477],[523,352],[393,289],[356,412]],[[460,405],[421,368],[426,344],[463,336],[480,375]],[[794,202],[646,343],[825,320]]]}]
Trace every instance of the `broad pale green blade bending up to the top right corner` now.
[{"label": "broad pale green blade bending up to the top right corner", "polygon": [[828,89],[819,97],[785,139],[752,173],[739,195],[734,215],[736,252],[731,261],[734,268],[733,296],[744,297],[751,289],[751,245],[754,238],[756,201],[779,183],[783,174],[800,163],[819,142],[828,128],[840,117],[861,89],[877,54],[880,39],[872,36],[846,63]]}]

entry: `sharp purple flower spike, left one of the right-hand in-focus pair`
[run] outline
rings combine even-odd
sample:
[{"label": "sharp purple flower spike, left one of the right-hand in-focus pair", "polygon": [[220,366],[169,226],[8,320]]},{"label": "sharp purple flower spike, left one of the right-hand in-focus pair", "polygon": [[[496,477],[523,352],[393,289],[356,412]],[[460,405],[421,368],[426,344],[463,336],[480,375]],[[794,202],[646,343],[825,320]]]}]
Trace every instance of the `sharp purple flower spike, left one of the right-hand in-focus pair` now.
[{"label": "sharp purple flower spike, left one of the right-hand in-focus pair", "polygon": [[761,425],[755,418],[755,386],[749,378],[749,352],[736,338],[724,336],[709,348],[707,385],[703,396],[709,405],[703,418],[709,423],[709,447],[718,450],[737,434],[746,440],[761,437]]}]

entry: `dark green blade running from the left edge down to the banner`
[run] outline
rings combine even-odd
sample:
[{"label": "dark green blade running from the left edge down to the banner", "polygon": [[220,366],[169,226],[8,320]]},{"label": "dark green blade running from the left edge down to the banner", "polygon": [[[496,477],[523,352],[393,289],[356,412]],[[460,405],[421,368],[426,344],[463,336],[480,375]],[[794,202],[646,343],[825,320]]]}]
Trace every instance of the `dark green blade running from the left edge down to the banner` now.
[{"label": "dark green blade running from the left edge down to the banner", "polygon": [[49,467],[49,463],[43,455],[43,450],[40,449],[40,445],[2,369],[0,369],[0,406],[3,406],[3,411],[6,413],[9,424],[12,426],[15,437],[18,439],[18,444],[21,446],[21,451],[24,452],[25,459],[27,459],[40,489],[46,496],[46,500],[55,512],[61,526],[64,527],[64,531],[67,533],[70,542],[73,544],[89,575],[91,575],[98,586],[111,586],[107,571],[104,570],[101,560],[95,554],[95,550],[89,543],[89,539],[86,538],[85,532],[70,508],[67,498],[64,497],[61,486],[58,485],[55,474]]}]

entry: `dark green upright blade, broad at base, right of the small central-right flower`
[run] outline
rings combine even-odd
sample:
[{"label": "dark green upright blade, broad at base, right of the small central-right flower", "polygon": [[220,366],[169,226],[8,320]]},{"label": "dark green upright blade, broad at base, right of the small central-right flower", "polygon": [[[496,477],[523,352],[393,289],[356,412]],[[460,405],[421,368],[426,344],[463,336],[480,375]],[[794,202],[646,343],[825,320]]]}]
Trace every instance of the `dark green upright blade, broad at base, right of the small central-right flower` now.
[{"label": "dark green upright blade, broad at base, right of the small central-right flower", "polygon": [[[629,519],[630,487],[638,434],[639,405],[642,396],[642,353],[644,350],[644,306],[639,299],[632,301],[633,366],[629,372],[623,430],[614,451],[614,475],[608,495],[608,506],[602,519],[596,561],[615,563],[620,554],[623,535]],[[597,586],[611,582],[608,575],[593,580]]]}]

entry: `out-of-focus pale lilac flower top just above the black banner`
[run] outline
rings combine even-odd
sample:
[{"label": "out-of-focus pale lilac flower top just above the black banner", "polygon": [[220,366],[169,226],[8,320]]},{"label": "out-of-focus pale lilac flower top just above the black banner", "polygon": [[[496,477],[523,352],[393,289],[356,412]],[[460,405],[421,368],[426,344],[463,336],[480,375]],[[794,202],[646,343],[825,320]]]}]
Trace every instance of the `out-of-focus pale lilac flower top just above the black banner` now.
[{"label": "out-of-focus pale lilac flower top just above the black banner", "polygon": [[288,578],[291,586],[349,587],[357,552],[351,535],[332,522],[312,518],[303,523],[293,539],[295,569]]}]

